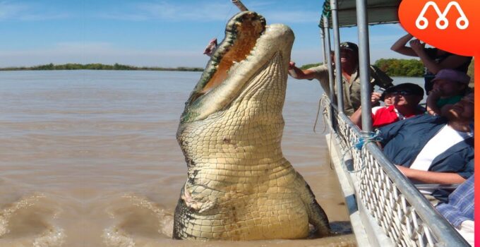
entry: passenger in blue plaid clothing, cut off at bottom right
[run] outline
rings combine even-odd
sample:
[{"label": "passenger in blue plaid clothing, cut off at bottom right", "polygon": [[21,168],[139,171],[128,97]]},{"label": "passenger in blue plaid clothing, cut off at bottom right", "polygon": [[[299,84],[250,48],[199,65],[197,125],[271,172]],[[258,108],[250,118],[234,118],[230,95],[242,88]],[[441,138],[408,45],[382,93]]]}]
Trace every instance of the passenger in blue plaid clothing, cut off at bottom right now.
[{"label": "passenger in blue plaid clothing, cut off at bottom right", "polygon": [[458,233],[471,245],[475,246],[474,226],[474,176],[472,175],[455,189],[447,203],[437,205],[437,210],[452,224]]}]

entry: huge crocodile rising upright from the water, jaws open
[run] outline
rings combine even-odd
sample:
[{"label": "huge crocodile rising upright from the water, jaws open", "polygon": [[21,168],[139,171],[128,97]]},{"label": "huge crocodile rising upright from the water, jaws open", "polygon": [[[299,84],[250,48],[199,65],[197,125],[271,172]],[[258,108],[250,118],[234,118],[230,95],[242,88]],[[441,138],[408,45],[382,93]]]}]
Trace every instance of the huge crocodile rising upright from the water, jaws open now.
[{"label": "huge crocodile rising upright from the water, jaws open", "polygon": [[294,33],[237,13],[181,114],[188,179],[174,239],[300,239],[330,235],[328,217],[281,149]]}]

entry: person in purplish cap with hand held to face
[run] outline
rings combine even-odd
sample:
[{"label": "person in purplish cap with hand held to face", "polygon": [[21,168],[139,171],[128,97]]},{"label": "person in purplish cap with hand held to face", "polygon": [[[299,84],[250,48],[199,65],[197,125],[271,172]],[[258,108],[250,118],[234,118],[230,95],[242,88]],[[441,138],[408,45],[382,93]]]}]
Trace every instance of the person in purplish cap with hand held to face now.
[{"label": "person in purplish cap with hand held to face", "polygon": [[466,73],[445,68],[438,71],[432,82],[433,90],[426,99],[427,112],[431,115],[439,115],[440,109],[445,104],[455,104],[462,99],[469,89],[470,77]]}]

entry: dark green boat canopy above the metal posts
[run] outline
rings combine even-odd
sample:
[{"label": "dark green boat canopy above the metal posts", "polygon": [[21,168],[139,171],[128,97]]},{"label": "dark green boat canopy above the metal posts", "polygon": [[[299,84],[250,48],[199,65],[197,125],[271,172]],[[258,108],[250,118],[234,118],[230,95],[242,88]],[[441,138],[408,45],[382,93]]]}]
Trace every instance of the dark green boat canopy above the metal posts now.
[{"label": "dark green boat canopy above the metal posts", "polygon": [[[398,23],[398,7],[402,0],[368,0],[366,8],[368,13],[368,24]],[[356,1],[355,0],[337,0],[338,2],[338,22],[340,28],[352,27],[356,25]],[[326,16],[332,28],[332,18],[330,11],[330,0],[325,0],[323,4],[323,16]],[[323,28],[323,21],[318,25]]]}]

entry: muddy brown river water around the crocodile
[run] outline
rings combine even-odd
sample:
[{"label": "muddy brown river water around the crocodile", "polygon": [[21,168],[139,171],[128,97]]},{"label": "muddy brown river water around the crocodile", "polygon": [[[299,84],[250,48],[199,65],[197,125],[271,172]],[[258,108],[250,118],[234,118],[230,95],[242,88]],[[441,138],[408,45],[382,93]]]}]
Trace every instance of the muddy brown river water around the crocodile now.
[{"label": "muddy brown river water around the crocodile", "polygon": [[[341,236],[172,240],[186,164],[175,133],[194,72],[0,72],[0,246],[353,246],[318,81],[289,79],[282,147]],[[317,131],[323,131],[319,120]]]}]

